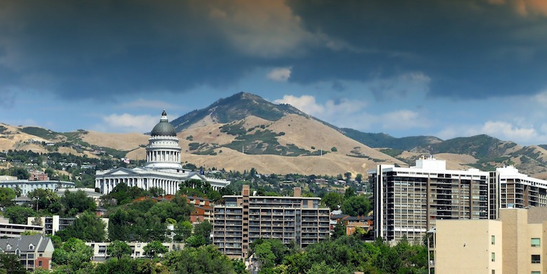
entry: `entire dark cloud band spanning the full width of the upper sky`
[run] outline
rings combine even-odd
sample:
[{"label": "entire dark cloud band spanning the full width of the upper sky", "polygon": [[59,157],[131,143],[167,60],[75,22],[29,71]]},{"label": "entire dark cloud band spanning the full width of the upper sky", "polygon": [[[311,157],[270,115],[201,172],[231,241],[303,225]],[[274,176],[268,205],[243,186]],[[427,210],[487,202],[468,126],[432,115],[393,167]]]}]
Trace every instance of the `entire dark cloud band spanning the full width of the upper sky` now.
[{"label": "entire dark cloud band spanning the full width of the upper sky", "polygon": [[291,66],[289,81],[333,81],[335,90],[340,80],[390,86],[386,79],[418,72],[437,97],[531,94],[547,79],[547,20],[534,8],[502,0],[0,1],[0,85],[103,99],[218,88],[258,66]]}]

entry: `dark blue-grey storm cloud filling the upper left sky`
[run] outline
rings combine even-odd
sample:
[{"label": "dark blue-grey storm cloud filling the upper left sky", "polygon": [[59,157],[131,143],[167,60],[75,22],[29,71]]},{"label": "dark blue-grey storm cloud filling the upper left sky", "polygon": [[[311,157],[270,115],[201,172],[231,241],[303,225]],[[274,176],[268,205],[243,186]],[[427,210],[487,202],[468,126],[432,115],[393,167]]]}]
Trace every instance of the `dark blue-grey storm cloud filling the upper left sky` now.
[{"label": "dark blue-grey storm cloud filling the upper left sky", "polygon": [[190,1],[12,1],[0,10],[3,84],[63,98],[222,86],[254,62]]}]

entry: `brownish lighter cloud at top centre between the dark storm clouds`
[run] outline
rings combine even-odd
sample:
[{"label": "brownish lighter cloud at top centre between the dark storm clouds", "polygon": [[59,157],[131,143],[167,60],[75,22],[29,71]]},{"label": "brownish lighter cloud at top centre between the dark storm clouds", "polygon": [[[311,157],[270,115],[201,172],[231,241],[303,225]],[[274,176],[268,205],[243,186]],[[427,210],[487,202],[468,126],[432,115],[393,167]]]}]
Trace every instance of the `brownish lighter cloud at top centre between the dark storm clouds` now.
[{"label": "brownish lighter cloud at top centre between the dark storm clouds", "polygon": [[306,31],[284,0],[210,1],[209,18],[234,49],[245,55],[278,58],[305,53],[319,36]]}]

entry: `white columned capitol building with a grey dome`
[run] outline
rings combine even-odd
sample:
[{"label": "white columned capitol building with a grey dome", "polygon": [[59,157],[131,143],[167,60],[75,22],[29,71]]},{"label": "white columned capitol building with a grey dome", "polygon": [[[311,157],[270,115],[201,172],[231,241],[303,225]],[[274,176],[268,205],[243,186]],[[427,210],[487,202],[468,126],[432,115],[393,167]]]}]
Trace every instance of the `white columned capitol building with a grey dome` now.
[{"label": "white columned capitol building with a grey dome", "polygon": [[230,181],[214,179],[183,169],[181,165],[181,147],[175,127],[169,123],[167,114],[161,113],[159,123],[150,132],[146,146],[146,164],[134,169],[118,168],[108,171],[96,171],[95,187],[103,195],[109,194],[118,184],[137,186],[144,190],[161,188],[166,195],[175,194],[179,184],[188,179],[208,182],[213,189],[224,188]]}]

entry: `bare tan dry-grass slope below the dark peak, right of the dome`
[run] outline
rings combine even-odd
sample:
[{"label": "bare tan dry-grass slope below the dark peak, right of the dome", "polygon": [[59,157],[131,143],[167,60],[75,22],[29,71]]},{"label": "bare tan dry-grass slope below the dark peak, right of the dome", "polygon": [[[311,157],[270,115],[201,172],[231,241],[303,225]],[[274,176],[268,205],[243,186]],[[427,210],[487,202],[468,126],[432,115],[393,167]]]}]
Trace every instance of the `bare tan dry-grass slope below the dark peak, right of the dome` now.
[{"label": "bare tan dry-grass slope below the dark peak, right of the dome", "polygon": [[[381,162],[404,165],[400,160],[370,149],[370,147],[347,138],[331,127],[303,116],[289,114],[276,122],[249,116],[240,122],[243,122],[245,129],[252,129],[249,132],[250,134],[260,130],[260,125],[264,125],[266,129],[273,132],[284,132],[284,136],[278,138],[280,145],[293,144],[307,150],[313,150],[312,147],[314,147],[315,150],[324,149],[326,152],[322,156],[287,157],[281,155],[249,155],[243,154],[242,151],[220,147],[215,149],[217,155],[189,153],[188,144],[191,142],[226,145],[236,138],[236,136],[221,132],[220,127],[223,124],[203,123],[205,125],[201,127],[192,125],[179,133],[183,162],[188,161],[197,166],[216,167],[228,171],[244,171],[254,167],[260,173],[299,173],[306,175],[338,175],[346,172],[354,175],[357,173],[365,174]],[[336,147],[337,151],[331,151],[333,147]]]}]

